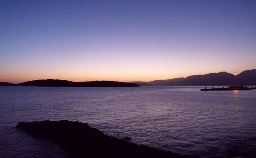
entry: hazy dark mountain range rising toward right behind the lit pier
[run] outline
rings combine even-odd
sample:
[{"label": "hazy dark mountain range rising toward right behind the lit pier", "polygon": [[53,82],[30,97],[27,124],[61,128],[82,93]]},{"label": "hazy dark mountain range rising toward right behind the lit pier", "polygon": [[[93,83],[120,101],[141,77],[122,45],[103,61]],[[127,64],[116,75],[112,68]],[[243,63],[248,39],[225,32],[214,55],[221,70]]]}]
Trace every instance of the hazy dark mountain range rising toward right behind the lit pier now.
[{"label": "hazy dark mountain range rising toward right behind the lit pier", "polygon": [[193,75],[186,78],[131,82],[139,85],[256,85],[256,69],[245,70],[238,75],[227,72]]}]

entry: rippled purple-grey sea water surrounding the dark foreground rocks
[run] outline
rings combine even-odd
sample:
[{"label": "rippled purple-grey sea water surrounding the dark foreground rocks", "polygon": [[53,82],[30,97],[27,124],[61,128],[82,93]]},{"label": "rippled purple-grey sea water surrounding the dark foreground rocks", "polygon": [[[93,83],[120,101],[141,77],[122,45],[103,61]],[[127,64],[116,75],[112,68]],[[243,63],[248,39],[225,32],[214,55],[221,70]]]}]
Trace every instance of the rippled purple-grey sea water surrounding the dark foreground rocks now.
[{"label": "rippled purple-grey sea water surrounding the dark foreground rocks", "polygon": [[46,119],[88,122],[111,136],[181,154],[256,154],[256,91],[200,88],[2,86],[0,157],[65,157],[58,145],[15,128]]}]

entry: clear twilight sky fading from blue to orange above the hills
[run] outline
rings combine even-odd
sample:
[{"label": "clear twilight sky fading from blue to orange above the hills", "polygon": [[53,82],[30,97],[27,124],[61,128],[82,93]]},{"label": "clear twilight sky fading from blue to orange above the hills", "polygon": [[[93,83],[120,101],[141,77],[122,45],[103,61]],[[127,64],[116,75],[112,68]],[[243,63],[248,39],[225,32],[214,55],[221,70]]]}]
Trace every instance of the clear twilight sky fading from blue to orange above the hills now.
[{"label": "clear twilight sky fading from blue to orange above the hills", "polygon": [[0,1],[0,82],[256,68],[256,1]]}]

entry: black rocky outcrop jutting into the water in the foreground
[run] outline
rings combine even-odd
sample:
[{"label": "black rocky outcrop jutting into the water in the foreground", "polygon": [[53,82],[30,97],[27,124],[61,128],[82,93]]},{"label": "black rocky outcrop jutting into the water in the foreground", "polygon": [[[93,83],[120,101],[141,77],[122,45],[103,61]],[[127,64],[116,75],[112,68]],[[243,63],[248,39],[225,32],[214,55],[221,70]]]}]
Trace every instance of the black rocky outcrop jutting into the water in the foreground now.
[{"label": "black rocky outcrop jutting into the water in the foreground", "polygon": [[36,138],[56,142],[70,157],[198,157],[137,145],[107,136],[87,123],[62,121],[20,122],[16,128]]}]

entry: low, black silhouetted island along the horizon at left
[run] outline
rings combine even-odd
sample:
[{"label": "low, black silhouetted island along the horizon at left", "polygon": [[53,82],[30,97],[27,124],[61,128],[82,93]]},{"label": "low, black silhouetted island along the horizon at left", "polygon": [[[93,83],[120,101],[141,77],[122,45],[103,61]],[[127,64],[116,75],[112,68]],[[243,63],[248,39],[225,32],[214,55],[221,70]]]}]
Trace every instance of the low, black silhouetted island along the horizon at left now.
[{"label": "low, black silhouetted island along the horizon at left", "polygon": [[67,80],[34,80],[13,84],[0,82],[0,86],[39,86],[39,87],[138,87],[136,83],[125,83],[115,81],[91,81],[91,82],[72,82]]}]

